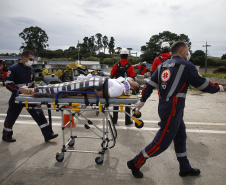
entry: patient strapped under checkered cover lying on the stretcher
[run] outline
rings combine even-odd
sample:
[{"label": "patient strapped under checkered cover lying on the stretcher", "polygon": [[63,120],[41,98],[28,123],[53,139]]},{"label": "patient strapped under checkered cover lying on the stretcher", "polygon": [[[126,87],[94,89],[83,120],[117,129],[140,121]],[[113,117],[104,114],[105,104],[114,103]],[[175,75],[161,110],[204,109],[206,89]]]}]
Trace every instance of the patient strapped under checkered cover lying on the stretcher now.
[{"label": "patient strapped under checkered cover lying on the stretcher", "polygon": [[[78,80],[71,82],[64,82],[59,84],[49,84],[46,86],[39,86],[35,88],[21,87],[20,92],[23,94],[30,94],[35,98],[41,97],[55,97],[59,91],[93,91],[99,97],[118,97],[123,94],[128,95],[130,92],[136,94],[139,92],[139,84],[133,79],[125,80],[124,78],[109,79],[108,77],[88,77],[78,78]],[[65,93],[65,96],[72,96],[72,93]]]}]

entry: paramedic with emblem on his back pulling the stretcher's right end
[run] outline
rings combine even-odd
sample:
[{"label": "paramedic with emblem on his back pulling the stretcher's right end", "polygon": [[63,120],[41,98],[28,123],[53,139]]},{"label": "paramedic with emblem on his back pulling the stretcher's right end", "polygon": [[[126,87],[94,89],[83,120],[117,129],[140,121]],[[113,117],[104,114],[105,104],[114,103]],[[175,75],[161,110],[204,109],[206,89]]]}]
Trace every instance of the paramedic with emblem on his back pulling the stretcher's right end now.
[{"label": "paramedic with emblem on his back pulling the stretcher's right end", "polygon": [[186,153],[186,128],[183,121],[185,98],[189,84],[208,93],[223,91],[223,87],[199,76],[196,67],[189,62],[189,48],[182,41],[175,42],[172,47],[172,59],[160,64],[142,92],[142,98],[137,102],[140,109],[154,88],[158,87],[158,114],[162,125],[153,141],[147,145],[134,159],[127,162],[132,174],[142,178],[140,168],[145,161],[164,152],[171,142],[174,142],[175,153],[180,166],[181,177],[197,176],[199,169],[191,167]]}]

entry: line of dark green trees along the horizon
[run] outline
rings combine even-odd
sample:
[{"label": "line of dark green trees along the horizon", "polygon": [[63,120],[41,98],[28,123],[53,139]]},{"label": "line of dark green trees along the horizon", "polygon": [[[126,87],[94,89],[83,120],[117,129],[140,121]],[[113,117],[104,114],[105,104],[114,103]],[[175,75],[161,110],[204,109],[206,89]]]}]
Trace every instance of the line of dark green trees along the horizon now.
[{"label": "line of dark green trees along the horizon", "polygon": [[[25,28],[20,34],[24,42],[20,47],[20,51],[29,49],[32,50],[35,55],[52,60],[98,60],[101,63],[114,64],[116,60],[119,60],[119,53],[121,47],[115,46],[114,37],[107,37],[101,33],[97,33],[90,37],[84,37],[82,43],[78,43],[76,46],[70,46],[66,50],[48,49],[48,35],[40,27]],[[161,53],[161,43],[168,41],[172,45],[175,41],[184,41],[191,48],[191,41],[185,34],[175,34],[170,31],[163,31],[162,33],[153,35],[145,45],[141,46],[142,54],[140,58],[129,57],[132,64],[140,61],[146,61],[152,63],[156,57]],[[130,52],[132,48],[127,48]],[[107,51],[107,52],[106,52]],[[194,53],[191,52],[191,62],[195,65],[204,66],[205,53],[202,50],[197,50]],[[212,66],[224,65],[226,66],[226,54],[222,55],[221,59],[208,58],[208,64]]]}]

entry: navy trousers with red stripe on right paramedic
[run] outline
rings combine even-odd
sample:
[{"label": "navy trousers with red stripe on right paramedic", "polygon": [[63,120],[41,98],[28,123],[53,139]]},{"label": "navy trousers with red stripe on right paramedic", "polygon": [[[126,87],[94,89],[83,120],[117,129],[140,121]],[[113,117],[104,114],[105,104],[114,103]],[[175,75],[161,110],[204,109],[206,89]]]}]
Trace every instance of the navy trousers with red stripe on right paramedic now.
[{"label": "navy trousers with red stripe on right paramedic", "polygon": [[159,109],[161,128],[158,130],[153,141],[145,147],[134,159],[137,169],[141,168],[150,157],[155,157],[164,152],[174,142],[180,171],[186,172],[191,169],[186,154],[186,127],[183,121],[184,109]]}]

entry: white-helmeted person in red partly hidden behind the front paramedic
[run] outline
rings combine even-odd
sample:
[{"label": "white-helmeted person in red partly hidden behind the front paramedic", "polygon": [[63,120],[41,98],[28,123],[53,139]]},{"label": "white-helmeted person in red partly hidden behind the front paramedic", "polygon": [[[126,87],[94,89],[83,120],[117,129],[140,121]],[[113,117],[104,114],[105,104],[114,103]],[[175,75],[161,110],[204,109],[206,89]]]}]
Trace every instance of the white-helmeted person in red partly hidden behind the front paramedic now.
[{"label": "white-helmeted person in red partly hidden behind the front paramedic", "polygon": [[162,54],[160,54],[160,56],[155,58],[151,66],[151,75],[155,72],[159,64],[165,62],[167,59],[170,59],[171,57],[169,42],[163,42],[161,44],[161,50],[162,50]]}]

